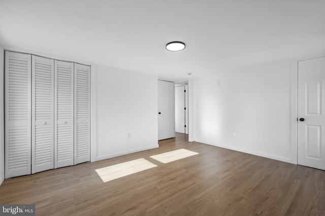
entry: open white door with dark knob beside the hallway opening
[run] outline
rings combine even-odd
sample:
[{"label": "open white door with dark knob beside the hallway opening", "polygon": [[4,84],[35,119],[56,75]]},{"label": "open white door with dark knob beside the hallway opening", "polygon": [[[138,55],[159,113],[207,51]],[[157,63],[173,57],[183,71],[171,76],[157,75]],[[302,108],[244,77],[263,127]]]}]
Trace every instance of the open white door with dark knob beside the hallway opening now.
[{"label": "open white door with dark knob beside the hallway opening", "polygon": [[175,137],[175,85],[158,80],[158,140]]}]

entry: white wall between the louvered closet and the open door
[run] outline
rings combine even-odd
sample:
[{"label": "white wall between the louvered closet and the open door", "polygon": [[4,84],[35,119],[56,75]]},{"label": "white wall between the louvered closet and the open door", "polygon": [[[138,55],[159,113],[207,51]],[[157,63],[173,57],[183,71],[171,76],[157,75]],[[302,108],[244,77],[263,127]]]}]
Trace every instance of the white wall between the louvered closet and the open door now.
[{"label": "white wall between the louvered closet and the open door", "polygon": [[97,160],[158,147],[156,75],[98,65],[96,92]]}]

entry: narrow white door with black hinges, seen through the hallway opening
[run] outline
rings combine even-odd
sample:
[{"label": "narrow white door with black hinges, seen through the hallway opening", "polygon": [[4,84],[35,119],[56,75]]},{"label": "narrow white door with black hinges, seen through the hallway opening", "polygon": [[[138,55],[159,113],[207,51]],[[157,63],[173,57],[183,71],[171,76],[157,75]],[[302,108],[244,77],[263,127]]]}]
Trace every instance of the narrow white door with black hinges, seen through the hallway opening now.
[{"label": "narrow white door with black hinges, seen through the hallway opening", "polygon": [[185,85],[175,87],[175,131],[185,134]]}]

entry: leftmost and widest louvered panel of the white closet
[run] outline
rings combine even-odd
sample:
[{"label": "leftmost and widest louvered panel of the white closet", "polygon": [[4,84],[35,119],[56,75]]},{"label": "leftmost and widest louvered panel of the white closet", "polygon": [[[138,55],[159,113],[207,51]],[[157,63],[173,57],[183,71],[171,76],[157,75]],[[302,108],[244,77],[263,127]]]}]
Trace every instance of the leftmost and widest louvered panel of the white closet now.
[{"label": "leftmost and widest louvered panel of the white closet", "polygon": [[31,56],[5,52],[5,178],[30,174]]}]

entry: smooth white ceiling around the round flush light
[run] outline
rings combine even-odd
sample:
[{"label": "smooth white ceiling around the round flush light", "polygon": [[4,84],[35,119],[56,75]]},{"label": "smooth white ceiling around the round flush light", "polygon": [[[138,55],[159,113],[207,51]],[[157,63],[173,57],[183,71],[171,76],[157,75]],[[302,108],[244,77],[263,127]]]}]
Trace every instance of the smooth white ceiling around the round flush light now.
[{"label": "smooth white ceiling around the round flush light", "polygon": [[325,54],[325,0],[0,0],[0,44],[178,81]]}]

